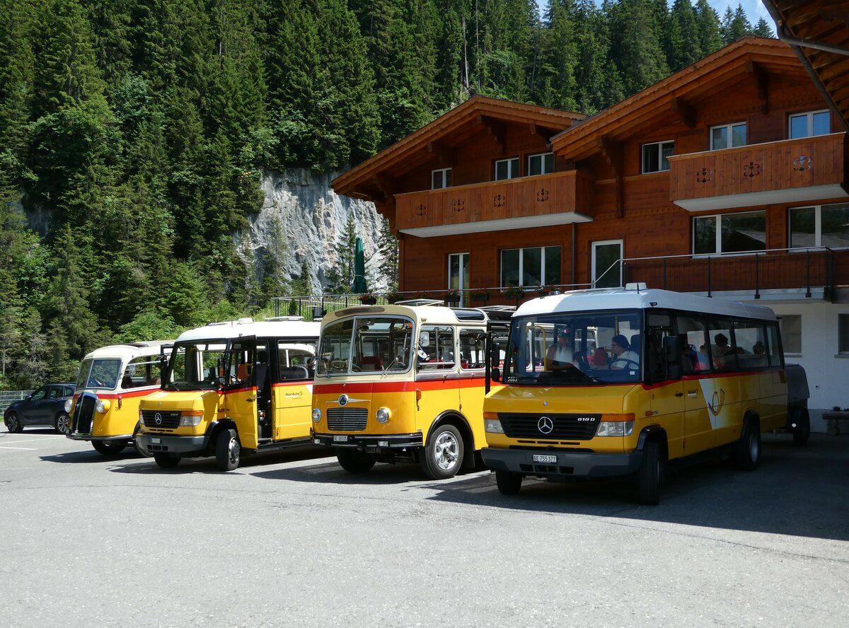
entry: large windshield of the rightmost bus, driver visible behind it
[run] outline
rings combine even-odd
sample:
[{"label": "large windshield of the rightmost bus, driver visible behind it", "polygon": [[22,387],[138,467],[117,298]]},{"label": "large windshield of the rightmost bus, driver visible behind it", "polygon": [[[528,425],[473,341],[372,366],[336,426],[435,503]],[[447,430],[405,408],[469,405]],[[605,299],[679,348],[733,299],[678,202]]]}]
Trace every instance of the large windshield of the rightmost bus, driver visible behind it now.
[{"label": "large windshield of the rightmost bus, driver visible behind it", "polygon": [[642,312],[553,312],[510,325],[504,382],[541,386],[640,381]]}]

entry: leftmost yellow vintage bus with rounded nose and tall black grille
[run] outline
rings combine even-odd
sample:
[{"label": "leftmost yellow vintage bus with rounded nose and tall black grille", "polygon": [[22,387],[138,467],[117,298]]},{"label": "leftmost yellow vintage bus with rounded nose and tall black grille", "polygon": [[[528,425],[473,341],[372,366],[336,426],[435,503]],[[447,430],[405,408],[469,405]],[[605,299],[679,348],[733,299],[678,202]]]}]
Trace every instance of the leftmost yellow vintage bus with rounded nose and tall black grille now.
[{"label": "leftmost yellow vintage bus with rounded nose and tall black grille", "polygon": [[80,364],[66,436],[89,440],[104,456],[115,456],[138,432],[138,402],[160,387],[162,363],[173,340],[110,345],[93,350]]}]

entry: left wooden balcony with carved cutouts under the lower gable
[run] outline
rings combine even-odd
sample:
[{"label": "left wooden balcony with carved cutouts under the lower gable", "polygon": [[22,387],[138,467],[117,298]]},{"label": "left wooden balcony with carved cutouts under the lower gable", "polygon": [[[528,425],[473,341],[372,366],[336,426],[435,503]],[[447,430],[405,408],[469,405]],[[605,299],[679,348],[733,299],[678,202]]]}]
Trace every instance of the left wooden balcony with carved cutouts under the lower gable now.
[{"label": "left wooden balcony with carved cutouts under the lower gable", "polygon": [[591,190],[587,174],[565,171],[396,194],[396,227],[433,238],[589,222]]}]

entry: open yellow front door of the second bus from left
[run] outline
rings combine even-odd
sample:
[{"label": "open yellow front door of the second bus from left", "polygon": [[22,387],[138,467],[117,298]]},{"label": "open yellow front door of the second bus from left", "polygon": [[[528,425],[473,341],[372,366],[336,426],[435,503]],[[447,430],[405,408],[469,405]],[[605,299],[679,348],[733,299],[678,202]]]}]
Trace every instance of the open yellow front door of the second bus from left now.
[{"label": "open yellow front door of the second bus from left", "polygon": [[[224,407],[245,449],[259,446],[257,434],[256,338],[233,340],[225,371]],[[267,373],[267,369],[266,369]]]}]

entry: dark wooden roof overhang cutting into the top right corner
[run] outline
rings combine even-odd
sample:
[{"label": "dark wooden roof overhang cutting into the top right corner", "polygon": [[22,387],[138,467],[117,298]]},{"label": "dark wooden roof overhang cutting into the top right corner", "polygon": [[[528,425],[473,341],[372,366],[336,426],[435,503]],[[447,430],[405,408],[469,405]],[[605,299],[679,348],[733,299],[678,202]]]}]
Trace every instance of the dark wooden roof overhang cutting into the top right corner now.
[{"label": "dark wooden roof overhang cutting into the top right corner", "polygon": [[849,0],[763,0],[825,102],[849,131]]}]

